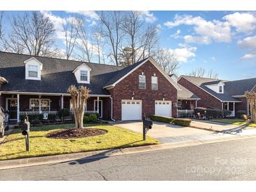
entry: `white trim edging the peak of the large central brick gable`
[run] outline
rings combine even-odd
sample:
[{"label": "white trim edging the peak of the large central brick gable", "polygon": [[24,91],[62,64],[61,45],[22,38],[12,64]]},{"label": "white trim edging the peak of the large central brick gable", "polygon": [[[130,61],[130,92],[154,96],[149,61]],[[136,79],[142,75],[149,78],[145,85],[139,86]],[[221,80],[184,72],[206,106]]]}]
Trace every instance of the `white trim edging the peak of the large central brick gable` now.
[{"label": "white trim edging the peak of the large central brick gable", "polygon": [[113,88],[117,83],[119,83],[120,81],[122,81],[123,78],[126,78],[126,76],[128,76],[128,75],[131,74],[131,73],[133,73],[133,71],[135,71],[136,69],[138,69],[139,67],[141,67],[142,64],[144,64],[144,63],[146,63],[146,62],[148,62],[148,61],[150,61],[151,64],[153,64],[154,67],[156,67],[156,69],[158,69],[158,70],[161,72],[161,74],[163,74],[163,76],[165,76],[166,79],[167,79],[177,90],[180,90],[180,87],[177,85],[177,83],[175,83],[175,81],[173,81],[173,79],[170,78],[170,76],[168,76],[168,75],[166,74],[166,72],[163,71],[163,69],[162,69],[161,67],[159,67],[159,64],[157,64],[156,61],[155,61],[152,57],[149,57],[147,60],[144,60],[144,62],[142,62],[142,63],[139,64],[137,67],[135,67],[134,69],[132,69],[131,71],[129,71],[127,74],[125,74],[124,76],[122,76],[121,78],[119,78],[119,80],[117,80],[115,83],[112,83],[112,85],[107,85],[107,86],[105,86],[105,87],[103,87],[103,88],[107,88],[107,89],[108,89],[108,88]]}]

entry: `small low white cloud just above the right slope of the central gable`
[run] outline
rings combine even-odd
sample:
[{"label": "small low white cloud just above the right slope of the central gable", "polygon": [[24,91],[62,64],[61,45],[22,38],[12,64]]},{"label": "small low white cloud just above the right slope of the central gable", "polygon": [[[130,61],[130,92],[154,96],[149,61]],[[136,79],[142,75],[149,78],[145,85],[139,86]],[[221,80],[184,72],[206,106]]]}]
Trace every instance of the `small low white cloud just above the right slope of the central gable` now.
[{"label": "small low white cloud just above the right slope of the central gable", "polygon": [[196,47],[184,47],[184,48],[175,48],[169,49],[170,53],[173,54],[174,57],[177,57],[179,62],[188,62],[189,58],[196,57]]}]

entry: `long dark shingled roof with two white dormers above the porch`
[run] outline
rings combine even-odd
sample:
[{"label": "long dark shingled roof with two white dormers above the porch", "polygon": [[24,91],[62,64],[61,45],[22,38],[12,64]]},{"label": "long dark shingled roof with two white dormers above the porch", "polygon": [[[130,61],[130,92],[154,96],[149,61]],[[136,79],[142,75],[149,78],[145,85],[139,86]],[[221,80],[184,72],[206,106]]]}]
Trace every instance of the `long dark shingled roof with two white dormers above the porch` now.
[{"label": "long dark shingled roof with two white dormers above the porch", "polygon": [[[123,67],[108,64],[62,60],[53,57],[33,57],[43,64],[41,81],[25,79],[24,62],[32,58],[31,55],[0,52],[0,75],[9,82],[1,85],[0,91],[65,94],[69,85],[85,85],[90,88],[90,95],[109,95],[109,91],[102,88],[103,85],[112,78],[115,71],[123,69]],[[76,77],[72,73],[83,63],[92,69],[90,84],[77,83]]]}]

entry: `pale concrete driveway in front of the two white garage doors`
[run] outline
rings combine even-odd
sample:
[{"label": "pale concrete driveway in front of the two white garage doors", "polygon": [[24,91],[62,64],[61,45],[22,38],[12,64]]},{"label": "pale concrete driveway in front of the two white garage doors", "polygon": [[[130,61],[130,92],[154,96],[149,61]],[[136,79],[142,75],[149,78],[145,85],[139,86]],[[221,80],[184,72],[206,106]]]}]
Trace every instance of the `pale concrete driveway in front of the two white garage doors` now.
[{"label": "pale concrete driveway in front of the two white garage doors", "polygon": [[[140,132],[142,134],[142,122],[126,121],[115,123],[114,125]],[[196,128],[181,127],[168,123],[159,123],[154,121],[153,127],[147,132],[147,135],[161,140],[163,143],[170,142],[184,142],[195,139],[214,137],[215,133],[208,130],[201,130]]]}]

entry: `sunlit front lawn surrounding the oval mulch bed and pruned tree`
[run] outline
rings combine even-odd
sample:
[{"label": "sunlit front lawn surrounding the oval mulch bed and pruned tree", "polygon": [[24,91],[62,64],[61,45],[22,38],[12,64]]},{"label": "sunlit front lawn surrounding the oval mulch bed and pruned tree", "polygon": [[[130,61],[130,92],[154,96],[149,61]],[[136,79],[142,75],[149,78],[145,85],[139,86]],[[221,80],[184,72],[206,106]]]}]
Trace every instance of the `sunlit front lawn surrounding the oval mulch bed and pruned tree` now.
[{"label": "sunlit front lawn surrounding the oval mulch bed and pruned tree", "polygon": [[21,135],[20,130],[14,130],[11,135],[6,137],[4,143],[0,144],[0,160],[160,143],[157,139],[148,136],[146,141],[143,141],[140,133],[118,128],[113,125],[86,125],[86,127],[104,129],[107,130],[107,134],[78,139],[50,139],[45,137],[47,133],[55,130],[74,128],[74,125],[64,124],[35,127],[31,128],[29,132],[30,151],[28,152],[25,151],[25,137]]}]

